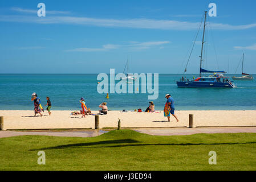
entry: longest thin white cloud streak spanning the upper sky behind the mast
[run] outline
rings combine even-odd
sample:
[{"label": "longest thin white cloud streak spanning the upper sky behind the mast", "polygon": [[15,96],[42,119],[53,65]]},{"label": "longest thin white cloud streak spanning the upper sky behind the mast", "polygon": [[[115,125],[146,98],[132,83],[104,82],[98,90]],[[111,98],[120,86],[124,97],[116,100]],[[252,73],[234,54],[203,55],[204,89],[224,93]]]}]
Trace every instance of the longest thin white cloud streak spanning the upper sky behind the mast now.
[{"label": "longest thin white cloud streak spanning the upper sky behind the mast", "polygon": [[[25,15],[0,15],[1,22],[23,22],[41,24],[76,24],[97,27],[123,27],[123,28],[147,28],[159,30],[197,30],[199,22],[182,22],[177,20],[161,19],[100,19],[76,16],[37,16]],[[215,30],[244,30],[256,27],[256,23],[231,25],[223,23],[210,23]]]}]

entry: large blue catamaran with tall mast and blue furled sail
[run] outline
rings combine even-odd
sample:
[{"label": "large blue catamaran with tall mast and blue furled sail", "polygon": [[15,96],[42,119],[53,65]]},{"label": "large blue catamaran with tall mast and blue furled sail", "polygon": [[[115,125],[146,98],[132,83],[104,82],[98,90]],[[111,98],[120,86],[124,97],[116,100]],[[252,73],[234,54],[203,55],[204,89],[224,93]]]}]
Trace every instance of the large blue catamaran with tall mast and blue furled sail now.
[{"label": "large blue catamaran with tall mast and blue furled sail", "polygon": [[[200,76],[198,78],[187,79],[186,77],[182,77],[180,81],[176,81],[178,87],[183,88],[235,88],[233,81],[230,81],[228,77],[224,76],[225,71],[208,71],[202,68],[202,54],[204,52],[204,36],[205,36],[205,26],[206,26],[206,14],[205,11],[205,21],[204,21],[204,32],[202,36],[202,48],[201,48],[201,56],[200,56]],[[199,29],[198,29],[199,31]],[[192,49],[193,50],[193,49]],[[187,64],[188,65],[188,64]],[[186,68],[184,73],[186,72]],[[213,73],[210,76],[202,76],[201,73]]]}]

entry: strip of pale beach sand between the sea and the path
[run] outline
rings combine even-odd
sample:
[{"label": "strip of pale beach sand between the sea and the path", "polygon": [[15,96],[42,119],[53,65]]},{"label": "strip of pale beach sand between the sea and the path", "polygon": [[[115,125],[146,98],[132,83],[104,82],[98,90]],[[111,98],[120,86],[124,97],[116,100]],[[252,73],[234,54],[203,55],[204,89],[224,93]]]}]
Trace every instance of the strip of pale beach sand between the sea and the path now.
[{"label": "strip of pale beach sand between the sea and the path", "polygon": [[[98,111],[92,111],[97,113]],[[86,129],[95,127],[94,115],[70,115],[71,111],[52,110],[49,116],[44,111],[43,117],[32,117],[33,110],[0,110],[4,117],[3,129]],[[176,111],[180,119],[176,122],[170,117],[171,122],[161,113],[135,113],[132,111],[108,111],[107,115],[100,115],[100,128],[117,127],[118,118],[121,127],[185,127],[188,126],[189,114],[194,114],[194,126],[256,126],[256,110],[246,111]]]}]

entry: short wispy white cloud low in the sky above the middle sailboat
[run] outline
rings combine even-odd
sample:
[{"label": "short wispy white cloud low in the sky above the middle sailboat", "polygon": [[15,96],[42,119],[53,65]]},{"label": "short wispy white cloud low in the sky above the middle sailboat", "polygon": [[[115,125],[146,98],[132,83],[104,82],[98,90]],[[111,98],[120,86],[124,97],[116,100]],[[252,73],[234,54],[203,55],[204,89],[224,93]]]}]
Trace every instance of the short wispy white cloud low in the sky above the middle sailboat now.
[{"label": "short wispy white cloud low in the sky above the middle sailboat", "polygon": [[[135,43],[135,42],[133,42]],[[143,42],[143,43],[135,43],[135,44],[107,44],[102,46],[101,48],[75,48],[71,50],[67,50],[68,52],[95,52],[95,51],[109,51],[110,49],[118,49],[118,48],[131,48],[131,49],[148,49],[154,46],[160,46],[162,44],[168,44],[169,41],[158,41],[158,42]]]}]

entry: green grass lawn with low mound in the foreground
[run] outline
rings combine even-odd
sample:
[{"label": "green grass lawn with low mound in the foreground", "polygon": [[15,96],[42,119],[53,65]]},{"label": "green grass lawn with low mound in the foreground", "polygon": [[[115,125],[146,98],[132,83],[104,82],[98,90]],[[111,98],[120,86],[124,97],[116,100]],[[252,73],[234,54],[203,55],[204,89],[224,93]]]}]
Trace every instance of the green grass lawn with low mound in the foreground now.
[{"label": "green grass lawn with low mound in the foreground", "polygon": [[[46,165],[37,163],[38,151],[46,153]],[[209,151],[216,151],[217,165],[208,163]],[[113,130],[92,138],[1,138],[0,170],[256,170],[256,134]]]}]

